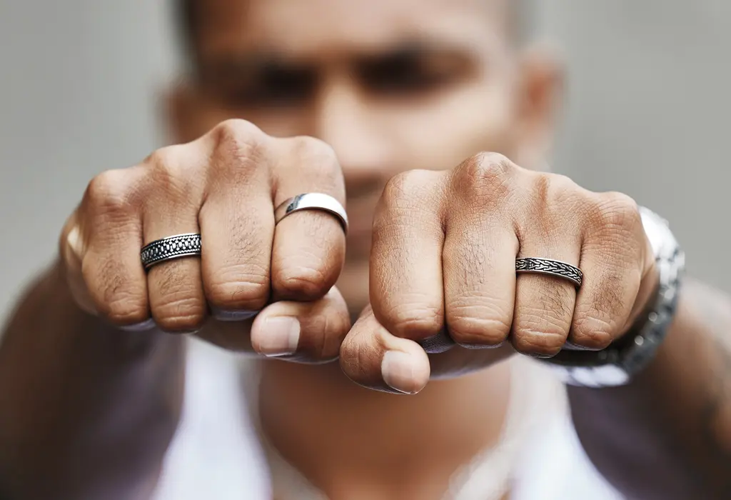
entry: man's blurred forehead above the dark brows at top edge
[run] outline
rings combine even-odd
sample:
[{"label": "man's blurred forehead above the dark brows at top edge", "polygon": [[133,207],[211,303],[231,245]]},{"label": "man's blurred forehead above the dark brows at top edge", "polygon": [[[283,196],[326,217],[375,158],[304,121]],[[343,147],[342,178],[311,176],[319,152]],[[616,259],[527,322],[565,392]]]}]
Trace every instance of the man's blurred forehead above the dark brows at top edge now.
[{"label": "man's blurred forehead above the dark brows at top edge", "polygon": [[200,1],[200,54],[266,50],[322,57],[404,39],[476,47],[505,39],[511,0]]}]

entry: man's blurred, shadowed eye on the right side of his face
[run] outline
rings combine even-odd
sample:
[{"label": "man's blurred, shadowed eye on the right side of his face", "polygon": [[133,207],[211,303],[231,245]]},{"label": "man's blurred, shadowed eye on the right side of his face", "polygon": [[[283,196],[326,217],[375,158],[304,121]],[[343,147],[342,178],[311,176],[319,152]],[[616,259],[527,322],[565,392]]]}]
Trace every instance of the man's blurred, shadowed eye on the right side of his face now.
[{"label": "man's blurred, shadowed eye on the right side of his face", "polygon": [[385,95],[423,94],[458,80],[463,67],[447,55],[404,50],[362,61],[360,80],[369,91]]}]

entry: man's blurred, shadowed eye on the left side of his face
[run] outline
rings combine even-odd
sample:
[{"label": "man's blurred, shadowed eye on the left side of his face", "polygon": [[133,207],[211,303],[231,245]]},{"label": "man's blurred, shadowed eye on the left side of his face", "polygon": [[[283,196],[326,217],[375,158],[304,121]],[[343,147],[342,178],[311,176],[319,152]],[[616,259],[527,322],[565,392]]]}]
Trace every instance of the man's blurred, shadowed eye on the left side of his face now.
[{"label": "man's blurred, shadowed eye on the left side of his face", "polygon": [[222,72],[215,88],[230,107],[293,107],[308,102],[316,86],[313,69],[271,63]]}]

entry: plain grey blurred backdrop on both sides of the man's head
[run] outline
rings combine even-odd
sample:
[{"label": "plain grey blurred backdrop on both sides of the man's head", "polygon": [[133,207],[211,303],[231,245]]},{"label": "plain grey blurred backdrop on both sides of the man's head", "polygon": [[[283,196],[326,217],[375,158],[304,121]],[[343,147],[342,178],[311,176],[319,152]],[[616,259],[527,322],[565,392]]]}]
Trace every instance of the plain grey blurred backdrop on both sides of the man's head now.
[{"label": "plain grey blurred backdrop on both sides of the man's head", "polygon": [[[731,1],[537,0],[569,66],[555,170],[672,222],[689,272],[731,290]],[[101,170],[160,145],[166,0],[0,0],[0,317],[50,262]]]}]

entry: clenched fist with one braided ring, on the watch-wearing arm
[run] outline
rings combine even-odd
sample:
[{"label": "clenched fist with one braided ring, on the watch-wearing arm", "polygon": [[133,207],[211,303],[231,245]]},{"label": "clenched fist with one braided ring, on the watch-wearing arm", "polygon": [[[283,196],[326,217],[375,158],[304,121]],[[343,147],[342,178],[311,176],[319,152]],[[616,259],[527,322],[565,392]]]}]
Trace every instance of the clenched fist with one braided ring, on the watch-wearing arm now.
[{"label": "clenched fist with one braided ring, on the watch-wearing arm", "polygon": [[[583,285],[515,273],[516,257],[561,260]],[[556,355],[567,341],[603,349],[656,286],[635,202],[562,175],[480,154],[444,172],[415,170],[387,185],[374,218],[371,307],[341,349],[355,382],[415,393],[510,355]],[[417,341],[455,346],[426,355]]]}]

